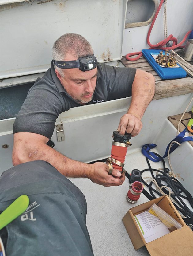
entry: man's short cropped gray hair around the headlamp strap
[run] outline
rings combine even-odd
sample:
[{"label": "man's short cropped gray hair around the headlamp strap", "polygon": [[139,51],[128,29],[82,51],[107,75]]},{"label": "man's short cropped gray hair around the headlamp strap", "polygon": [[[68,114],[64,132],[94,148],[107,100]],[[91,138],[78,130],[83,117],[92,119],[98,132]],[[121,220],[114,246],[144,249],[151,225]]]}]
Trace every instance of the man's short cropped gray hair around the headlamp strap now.
[{"label": "man's short cropped gray hair around the headlamp strap", "polygon": [[[75,58],[84,57],[93,54],[93,47],[81,35],[67,33],[59,37],[52,47],[52,57],[55,61],[65,61],[66,54],[70,53]],[[63,69],[54,65],[62,77],[64,77]]]}]

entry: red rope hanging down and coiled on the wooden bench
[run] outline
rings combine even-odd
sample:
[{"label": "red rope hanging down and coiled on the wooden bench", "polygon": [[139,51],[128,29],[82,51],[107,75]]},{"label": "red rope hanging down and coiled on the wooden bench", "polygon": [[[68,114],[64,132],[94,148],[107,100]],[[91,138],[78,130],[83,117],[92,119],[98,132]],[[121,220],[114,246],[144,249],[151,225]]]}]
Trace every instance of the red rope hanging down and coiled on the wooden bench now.
[{"label": "red rope hanging down and coiled on the wooden bench", "polygon": [[[161,6],[163,4],[164,0],[161,0],[158,8],[157,8],[157,11],[156,11],[156,14],[153,18],[153,21],[151,23],[151,26],[149,28],[149,31],[147,33],[147,44],[150,46],[150,48],[148,49],[160,49],[160,50],[173,50],[173,49],[176,49],[176,48],[184,48],[184,46],[181,46],[187,39],[187,37],[189,36],[189,34],[191,33],[192,30],[188,31],[184,37],[184,39],[179,43],[177,44],[177,38],[176,37],[173,37],[173,35],[169,35],[168,38],[162,40],[161,42],[157,43],[156,45],[152,45],[149,41],[149,37],[150,37],[150,34],[151,34],[151,30],[153,28],[153,25],[156,21],[156,18],[157,18],[157,15],[161,9]],[[173,41],[173,45],[171,47],[163,47],[164,45],[166,45],[166,43],[168,41],[172,40]],[[138,55],[139,54],[139,55]],[[130,56],[133,56],[133,55],[138,55],[137,57],[135,58],[130,58]],[[136,52],[136,53],[128,53],[125,58],[128,60],[128,61],[136,61],[138,60],[140,57],[142,56],[142,52]]]}]

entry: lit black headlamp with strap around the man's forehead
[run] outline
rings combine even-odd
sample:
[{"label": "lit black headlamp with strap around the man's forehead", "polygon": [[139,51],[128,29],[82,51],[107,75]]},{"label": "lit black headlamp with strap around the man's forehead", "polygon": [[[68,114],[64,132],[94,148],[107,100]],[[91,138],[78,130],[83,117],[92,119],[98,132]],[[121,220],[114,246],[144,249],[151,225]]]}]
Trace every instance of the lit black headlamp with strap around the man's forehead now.
[{"label": "lit black headlamp with strap around the man's forehead", "polygon": [[77,61],[54,61],[54,65],[60,69],[79,68],[81,71],[85,72],[97,67],[97,58],[93,54],[80,57]]}]

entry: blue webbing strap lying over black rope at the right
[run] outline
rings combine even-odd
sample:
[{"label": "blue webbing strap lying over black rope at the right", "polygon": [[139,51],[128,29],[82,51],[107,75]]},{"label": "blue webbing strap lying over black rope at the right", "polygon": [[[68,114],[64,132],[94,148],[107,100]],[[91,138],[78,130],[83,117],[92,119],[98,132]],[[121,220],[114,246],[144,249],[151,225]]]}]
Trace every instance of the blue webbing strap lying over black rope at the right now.
[{"label": "blue webbing strap lying over black rope at the right", "polygon": [[[185,133],[188,132],[187,128],[184,129],[184,131],[180,132],[180,134],[178,134],[178,136],[176,136],[175,139],[173,139],[172,141],[177,141],[178,143],[182,143],[184,141],[193,141],[193,137],[184,137]],[[165,154],[162,158],[156,156],[153,152],[150,152],[151,149],[155,148],[157,145],[156,144],[146,144],[146,145],[143,145],[142,147],[142,154],[144,156],[146,156],[147,158],[149,158],[151,161],[153,162],[159,162],[161,161],[163,158],[165,158],[166,156],[168,156],[168,149],[169,149],[169,146],[171,144],[171,142],[168,144],[167,148],[166,148],[166,151],[165,151]],[[170,152],[169,153],[172,153],[179,145],[177,143],[173,143],[171,148],[170,148]]]}]

